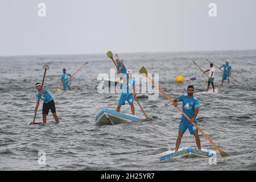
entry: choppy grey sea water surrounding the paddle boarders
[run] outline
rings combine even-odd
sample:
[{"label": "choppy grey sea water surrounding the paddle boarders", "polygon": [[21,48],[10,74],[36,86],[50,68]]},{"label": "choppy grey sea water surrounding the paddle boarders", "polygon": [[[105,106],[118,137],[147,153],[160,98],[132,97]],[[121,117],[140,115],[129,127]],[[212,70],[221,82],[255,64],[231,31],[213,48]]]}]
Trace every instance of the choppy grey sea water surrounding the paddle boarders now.
[{"label": "choppy grey sea water surrounding the paddle boarders", "polygon": [[[125,57],[126,67],[138,72],[142,66],[151,73],[159,73],[160,87],[171,97],[185,94],[189,84],[196,92],[203,91],[207,78],[192,60],[203,69],[208,57],[217,65],[231,61],[232,81],[222,86],[218,94],[195,93],[200,98],[199,127],[231,156],[210,165],[208,159],[180,159],[160,162],[158,154],[174,150],[181,114],[162,95],[158,100],[140,98],[146,113],[154,119],[141,123],[113,126],[95,125],[94,115],[103,107],[115,109],[118,94],[100,94],[99,73],[110,73],[113,63],[102,55],[20,56],[0,57],[0,169],[124,169],[124,170],[255,170],[256,169],[256,51],[131,53]],[[68,92],[54,92],[59,84],[62,68],[73,73],[85,61],[89,63],[77,73]],[[53,123],[49,114],[46,126],[30,126],[34,117],[35,82],[41,81],[42,67],[48,64],[45,86],[51,92],[60,124]],[[183,84],[175,76],[185,77]],[[196,77],[196,81],[189,78]],[[216,82],[221,72],[216,69]],[[125,105],[124,113],[130,113]],[[143,118],[135,104],[135,112]],[[42,121],[42,102],[36,121]],[[214,147],[200,135],[203,148]],[[195,147],[192,135],[184,134],[180,147]],[[46,152],[46,165],[38,164],[38,152]]]}]

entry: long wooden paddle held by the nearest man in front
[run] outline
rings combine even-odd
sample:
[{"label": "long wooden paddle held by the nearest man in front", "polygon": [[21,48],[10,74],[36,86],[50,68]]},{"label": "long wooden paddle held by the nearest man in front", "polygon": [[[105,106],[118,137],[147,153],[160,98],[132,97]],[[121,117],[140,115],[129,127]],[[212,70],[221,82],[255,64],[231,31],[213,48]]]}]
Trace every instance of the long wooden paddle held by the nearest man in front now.
[{"label": "long wooden paddle held by the nearest man in front", "polygon": [[[163,91],[158,85],[156,85],[156,83],[147,75],[147,70],[146,70],[146,68],[142,67],[142,68],[139,70],[139,73],[141,73],[143,76],[147,77],[148,80],[150,80],[150,81],[152,82],[152,84],[154,84],[154,85],[159,89],[159,91],[162,92],[162,93],[164,94],[164,96],[166,96],[166,98],[168,98],[168,100],[169,100],[172,104],[174,104],[174,101],[172,101],[171,98],[170,98],[169,96],[167,96],[167,94],[164,93],[164,91]],[[179,110],[179,111],[190,121],[191,118],[189,118],[188,115],[185,114],[185,113],[183,112],[183,110],[181,110],[178,105],[176,106],[176,108],[177,108],[177,110]],[[220,154],[221,154],[222,157],[224,157],[224,156],[229,156],[226,152],[220,150],[220,148],[218,148],[218,146],[217,146],[215,143],[213,143],[213,141],[212,141],[212,140],[194,123],[194,122],[192,122],[192,124],[196,127],[197,130],[199,130],[199,131],[201,132],[201,134],[204,135],[205,138],[207,138],[207,139],[209,140],[210,143],[212,143],[213,147],[215,147],[215,148],[220,152]]]}]

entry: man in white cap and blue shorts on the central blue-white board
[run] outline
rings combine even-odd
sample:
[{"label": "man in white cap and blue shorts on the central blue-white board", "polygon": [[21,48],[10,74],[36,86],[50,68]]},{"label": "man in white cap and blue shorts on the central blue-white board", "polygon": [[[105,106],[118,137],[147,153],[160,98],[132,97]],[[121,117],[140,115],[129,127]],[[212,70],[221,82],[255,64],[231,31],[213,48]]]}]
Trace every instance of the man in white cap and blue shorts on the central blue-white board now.
[{"label": "man in white cap and blue shorts on the central blue-white board", "polygon": [[[122,105],[125,105],[125,101],[129,103],[131,106],[131,114],[135,115],[134,104],[133,104],[133,93],[136,97],[136,80],[132,77],[133,73],[131,71],[127,72],[126,80],[123,81],[122,91],[119,97],[117,112],[120,112],[120,108]],[[129,86],[127,86],[126,82]],[[130,89],[129,89],[130,88]],[[131,92],[130,92],[131,90]]]}]

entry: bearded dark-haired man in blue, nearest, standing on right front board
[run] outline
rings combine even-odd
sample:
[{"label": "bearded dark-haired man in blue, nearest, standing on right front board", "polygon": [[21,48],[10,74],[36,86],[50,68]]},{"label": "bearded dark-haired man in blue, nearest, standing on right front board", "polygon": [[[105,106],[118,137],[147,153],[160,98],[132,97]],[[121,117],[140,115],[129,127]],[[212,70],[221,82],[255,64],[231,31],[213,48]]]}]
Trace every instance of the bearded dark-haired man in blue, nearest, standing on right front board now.
[{"label": "bearded dark-haired man in blue, nearest, standing on right front board", "polygon": [[200,108],[199,100],[193,96],[194,90],[195,90],[194,86],[189,85],[187,89],[188,95],[180,96],[174,100],[175,107],[177,106],[177,102],[180,102],[180,101],[183,102],[182,110],[184,111],[185,114],[188,115],[189,118],[191,118],[190,120],[188,120],[184,115],[182,115],[181,117],[180,126],[179,126],[179,135],[177,137],[175,151],[179,150],[181,138],[183,137],[183,134],[187,129],[189,130],[191,135],[193,134],[195,136],[197,148],[198,150],[201,150],[198,131],[196,127],[193,126],[192,124],[192,122],[194,122],[197,125],[196,116],[199,113],[199,108]]}]

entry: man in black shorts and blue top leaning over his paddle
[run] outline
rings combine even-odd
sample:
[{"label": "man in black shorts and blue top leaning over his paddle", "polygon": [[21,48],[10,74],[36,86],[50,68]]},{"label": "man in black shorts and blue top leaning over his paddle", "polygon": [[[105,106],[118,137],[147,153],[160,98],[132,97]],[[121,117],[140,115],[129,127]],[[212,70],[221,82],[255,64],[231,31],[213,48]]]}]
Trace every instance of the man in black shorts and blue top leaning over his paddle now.
[{"label": "man in black shorts and blue top leaning over his paddle", "polygon": [[46,124],[46,117],[47,117],[50,109],[51,109],[52,115],[55,119],[55,122],[59,123],[59,118],[57,117],[57,114],[56,114],[55,103],[53,101],[51,94],[49,93],[49,91],[46,88],[44,88],[44,87],[42,88],[42,85],[40,83],[36,83],[35,87],[38,90],[38,92],[36,92],[35,112],[38,110],[39,92],[41,92],[40,98],[42,101],[44,101],[44,103],[43,103],[43,124]]}]

